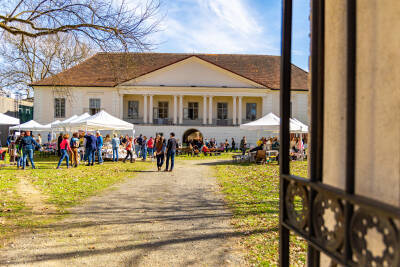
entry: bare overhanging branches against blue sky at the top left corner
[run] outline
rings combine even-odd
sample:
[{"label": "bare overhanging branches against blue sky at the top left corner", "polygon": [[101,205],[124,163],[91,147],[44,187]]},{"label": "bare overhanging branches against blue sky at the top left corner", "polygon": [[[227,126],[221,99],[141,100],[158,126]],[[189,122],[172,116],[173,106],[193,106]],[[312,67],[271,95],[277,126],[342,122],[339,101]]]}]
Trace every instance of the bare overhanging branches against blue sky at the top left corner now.
[{"label": "bare overhanging branches against blue sky at the top left corner", "polygon": [[102,50],[143,50],[158,24],[160,2],[131,7],[124,0],[0,0],[0,29],[15,36],[37,38],[71,33]]}]

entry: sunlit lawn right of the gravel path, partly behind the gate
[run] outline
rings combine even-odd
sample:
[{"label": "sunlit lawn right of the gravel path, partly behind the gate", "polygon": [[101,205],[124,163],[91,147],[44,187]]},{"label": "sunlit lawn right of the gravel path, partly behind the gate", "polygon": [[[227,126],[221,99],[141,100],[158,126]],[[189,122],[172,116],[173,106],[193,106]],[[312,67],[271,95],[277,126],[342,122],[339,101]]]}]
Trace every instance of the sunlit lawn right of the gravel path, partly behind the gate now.
[{"label": "sunlit lawn right of the gravel path, partly behind the gate", "polygon": [[[307,162],[291,162],[292,173],[307,177]],[[218,181],[233,210],[233,224],[248,235],[242,245],[252,264],[276,266],[279,258],[279,166],[226,163],[216,166]],[[304,241],[291,236],[291,266],[304,266]]]}]

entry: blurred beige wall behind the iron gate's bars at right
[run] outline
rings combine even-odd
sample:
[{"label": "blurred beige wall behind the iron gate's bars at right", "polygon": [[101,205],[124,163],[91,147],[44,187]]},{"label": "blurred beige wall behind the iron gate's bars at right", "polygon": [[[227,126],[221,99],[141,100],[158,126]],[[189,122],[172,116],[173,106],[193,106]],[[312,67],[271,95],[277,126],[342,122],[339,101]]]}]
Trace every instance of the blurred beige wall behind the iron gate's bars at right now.
[{"label": "blurred beige wall behind the iron gate's bars at right", "polygon": [[[346,0],[325,2],[323,182],[345,186]],[[355,191],[400,207],[400,2],[357,1]],[[381,242],[379,235],[368,241]],[[371,243],[370,243],[371,242]],[[322,266],[329,259],[322,257]]]}]

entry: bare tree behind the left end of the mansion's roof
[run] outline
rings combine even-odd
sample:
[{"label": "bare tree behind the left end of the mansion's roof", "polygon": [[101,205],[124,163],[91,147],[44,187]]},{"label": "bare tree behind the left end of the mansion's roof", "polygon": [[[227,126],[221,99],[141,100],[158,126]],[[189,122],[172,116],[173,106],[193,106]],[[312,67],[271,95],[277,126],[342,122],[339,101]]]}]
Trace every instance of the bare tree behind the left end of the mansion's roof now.
[{"label": "bare tree behind the left end of the mansion's roof", "polygon": [[[7,91],[32,96],[29,86],[91,56],[94,51],[69,34],[27,38],[6,34],[0,46],[0,87]],[[4,91],[5,91],[4,90]]]}]

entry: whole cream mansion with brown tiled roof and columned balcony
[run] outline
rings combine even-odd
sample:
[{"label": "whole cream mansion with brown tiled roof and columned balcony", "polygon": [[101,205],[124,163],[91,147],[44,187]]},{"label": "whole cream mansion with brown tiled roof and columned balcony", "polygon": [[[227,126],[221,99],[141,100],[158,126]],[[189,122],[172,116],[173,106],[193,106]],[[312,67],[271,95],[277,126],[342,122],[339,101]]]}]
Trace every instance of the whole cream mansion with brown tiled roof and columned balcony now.
[{"label": "whole cream mansion with brown tiled roof and columned balcony", "polygon": [[[34,119],[63,120],[100,110],[131,122],[136,135],[193,132],[218,142],[260,133],[239,129],[279,116],[280,57],[238,54],[98,53],[32,84]],[[291,117],[308,124],[308,73],[292,65]],[[262,133],[262,135],[277,133]]]}]

